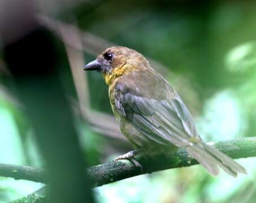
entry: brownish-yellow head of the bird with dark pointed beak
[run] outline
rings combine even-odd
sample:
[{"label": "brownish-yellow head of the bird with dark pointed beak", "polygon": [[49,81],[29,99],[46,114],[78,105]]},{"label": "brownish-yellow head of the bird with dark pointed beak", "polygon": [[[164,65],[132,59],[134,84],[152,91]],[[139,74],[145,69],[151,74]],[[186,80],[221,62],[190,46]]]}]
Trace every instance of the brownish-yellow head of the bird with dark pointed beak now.
[{"label": "brownish-yellow head of the bird with dark pointed beak", "polygon": [[131,48],[114,46],[107,48],[97,59],[86,64],[84,70],[98,70],[102,73],[107,85],[118,77],[131,72],[145,70],[149,62],[145,57]]}]

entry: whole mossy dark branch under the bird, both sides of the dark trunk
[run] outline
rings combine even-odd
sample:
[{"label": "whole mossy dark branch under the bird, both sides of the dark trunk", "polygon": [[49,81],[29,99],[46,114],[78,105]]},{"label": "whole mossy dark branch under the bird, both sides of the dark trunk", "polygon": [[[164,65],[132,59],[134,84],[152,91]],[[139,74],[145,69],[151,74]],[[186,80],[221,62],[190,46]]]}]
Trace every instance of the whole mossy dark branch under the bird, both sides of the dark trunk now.
[{"label": "whole mossy dark branch under the bird, both sides of the dark trunk", "polygon": [[[213,145],[235,159],[256,156],[256,137],[233,139],[218,142]],[[141,169],[135,167],[132,162],[128,160],[120,160],[92,166],[88,169],[88,175],[92,180],[94,187],[98,187],[103,184],[116,182],[136,175],[198,164],[198,162],[183,148],[180,148],[174,154],[171,154],[171,152],[164,152],[155,153],[150,156],[138,155],[135,156],[135,159],[142,165],[143,173],[141,173]],[[0,164],[0,176],[47,183],[47,171],[45,169],[36,169],[30,166]]]}]

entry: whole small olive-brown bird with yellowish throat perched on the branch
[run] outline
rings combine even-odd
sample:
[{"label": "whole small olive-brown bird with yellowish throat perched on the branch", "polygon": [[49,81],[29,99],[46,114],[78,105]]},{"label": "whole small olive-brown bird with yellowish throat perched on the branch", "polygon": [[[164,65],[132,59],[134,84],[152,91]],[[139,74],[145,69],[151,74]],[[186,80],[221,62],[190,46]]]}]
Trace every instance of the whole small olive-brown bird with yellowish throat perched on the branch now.
[{"label": "whole small olive-brown bird with yellowish throat perched on the branch", "polygon": [[185,147],[212,175],[219,174],[219,167],[232,176],[246,174],[232,158],[203,142],[180,96],[142,54],[127,47],[110,47],[84,70],[102,73],[114,116],[136,149],[115,160],[132,160],[140,151]]}]

